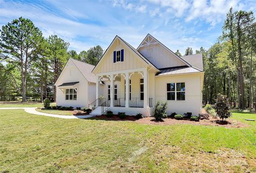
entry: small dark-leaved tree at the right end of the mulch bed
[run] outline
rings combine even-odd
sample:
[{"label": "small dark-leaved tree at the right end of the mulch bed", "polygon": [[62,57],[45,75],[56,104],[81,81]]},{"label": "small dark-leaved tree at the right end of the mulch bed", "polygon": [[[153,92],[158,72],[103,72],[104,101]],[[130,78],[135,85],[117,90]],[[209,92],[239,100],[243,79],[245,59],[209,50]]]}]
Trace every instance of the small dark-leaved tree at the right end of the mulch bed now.
[{"label": "small dark-leaved tree at the right end of the mulch bed", "polygon": [[229,102],[226,96],[218,94],[216,103],[214,105],[214,109],[217,113],[217,116],[220,117],[220,119],[229,118],[231,117],[231,114],[229,112]]}]

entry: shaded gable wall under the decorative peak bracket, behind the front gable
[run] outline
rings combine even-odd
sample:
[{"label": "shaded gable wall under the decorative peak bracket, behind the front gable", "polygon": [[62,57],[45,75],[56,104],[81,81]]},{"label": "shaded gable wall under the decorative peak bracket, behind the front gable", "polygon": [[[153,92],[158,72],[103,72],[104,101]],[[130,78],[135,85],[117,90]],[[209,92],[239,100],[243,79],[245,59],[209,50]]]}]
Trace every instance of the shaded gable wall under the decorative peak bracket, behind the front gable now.
[{"label": "shaded gable wall under the decorative peak bracket, behind the front gable", "polygon": [[[147,49],[152,49],[151,57],[147,53]],[[157,68],[174,67],[186,65],[180,59],[172,55],[168,50],[159,44],[143,46],[139,49],[140,53],[145,56]]]}]

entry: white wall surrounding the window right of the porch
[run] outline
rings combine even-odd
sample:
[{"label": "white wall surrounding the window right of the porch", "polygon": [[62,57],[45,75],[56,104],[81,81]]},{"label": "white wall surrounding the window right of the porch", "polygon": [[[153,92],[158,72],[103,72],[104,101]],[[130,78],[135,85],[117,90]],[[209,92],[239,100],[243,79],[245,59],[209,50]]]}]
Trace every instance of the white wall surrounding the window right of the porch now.
[{"label": "white wall surrounding the window right of the porch", "polygon": [[201,77],[201,74],[155,77],[155,101],[167,101],[166,83],[185,82],[185,101],[168,100],[167,115],[174,112],[198,115],[202,110]]}]

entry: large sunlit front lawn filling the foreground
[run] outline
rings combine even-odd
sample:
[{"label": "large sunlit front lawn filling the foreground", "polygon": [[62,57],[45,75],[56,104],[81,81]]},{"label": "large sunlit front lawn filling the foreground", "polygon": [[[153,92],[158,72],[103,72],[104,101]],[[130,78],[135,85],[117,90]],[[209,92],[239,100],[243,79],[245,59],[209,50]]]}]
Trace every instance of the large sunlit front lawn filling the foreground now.
[{"label": "large sunlit front lawn filling the foreground", "polygon": [[244,123],[251,126],[145,125],[0,110],[0,172],[253,172],[256,122]]}]

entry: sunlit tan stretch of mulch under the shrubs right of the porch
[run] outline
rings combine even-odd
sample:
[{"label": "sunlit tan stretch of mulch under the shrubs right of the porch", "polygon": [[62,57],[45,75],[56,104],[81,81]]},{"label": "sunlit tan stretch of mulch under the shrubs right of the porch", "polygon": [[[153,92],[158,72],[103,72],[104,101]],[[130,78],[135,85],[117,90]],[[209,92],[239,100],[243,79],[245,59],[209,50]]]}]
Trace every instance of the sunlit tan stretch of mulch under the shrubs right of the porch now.
[{"label": "sunlit tan stretch of mulch under the shrubs right of the porch", "polygon": [[249,125],[238,122],[237,120],[234,120],[234,119],[228,119],[222,122],[220,119],[212,118],[212,117],[210,117],[209,119],[200,120],[199,122],[194,122],[187,119],[177,120],[174,118],[165,118],[161,122],[156,122],[153,117],[146,117],[146,118],[139,119],[136,122],[141,124],[154,124],[154,125],[192,124],[192,125],[212,125],[212,126],[236,127],[236,128],[249,127]]}]

